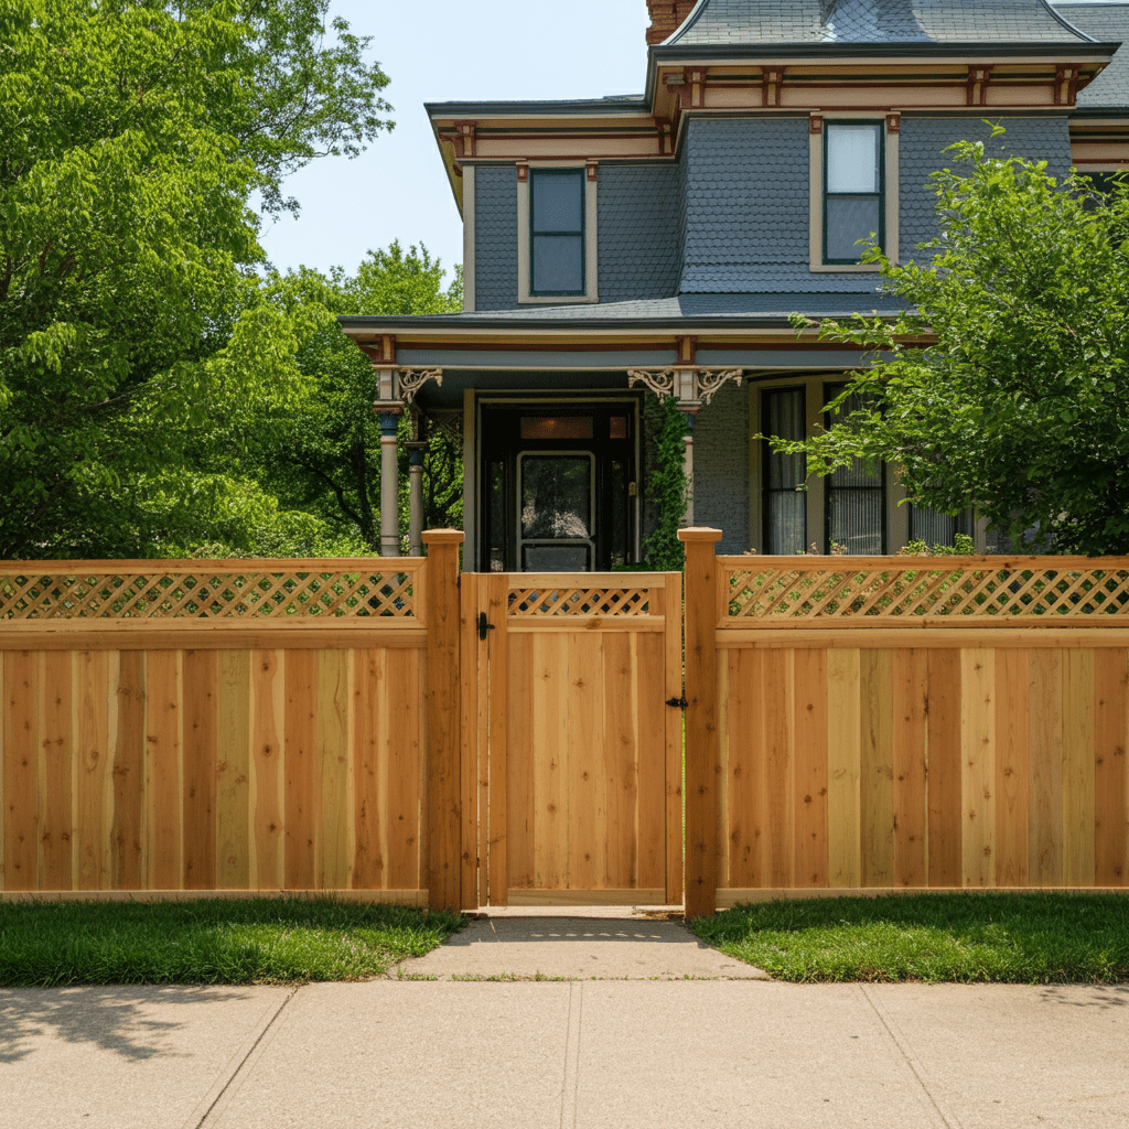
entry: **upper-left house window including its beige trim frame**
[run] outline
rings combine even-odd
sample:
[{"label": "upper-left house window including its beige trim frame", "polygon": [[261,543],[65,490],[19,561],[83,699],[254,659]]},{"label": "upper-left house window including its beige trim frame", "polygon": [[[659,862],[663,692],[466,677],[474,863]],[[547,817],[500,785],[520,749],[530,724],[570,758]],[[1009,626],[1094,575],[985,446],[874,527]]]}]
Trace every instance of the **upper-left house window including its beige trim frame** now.
[{"label": "upper-left house window including its beige trim frame", "polygon": [[595,161],[517,166],[517,300],[598,301]]}]

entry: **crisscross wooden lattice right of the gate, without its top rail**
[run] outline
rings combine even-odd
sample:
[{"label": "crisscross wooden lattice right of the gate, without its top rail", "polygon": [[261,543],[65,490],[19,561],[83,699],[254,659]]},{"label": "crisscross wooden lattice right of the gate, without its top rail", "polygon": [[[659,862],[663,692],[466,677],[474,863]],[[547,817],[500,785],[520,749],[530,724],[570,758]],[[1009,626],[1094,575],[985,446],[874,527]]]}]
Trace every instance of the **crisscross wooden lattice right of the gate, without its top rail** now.
[{"label": "crisscross wooden lattice right of the gate, without its top rail", "polygon": [[984,568],[739,569],[729,574],[729,618],[848,619],[881,615],[1122,615],[1129,570]]}]

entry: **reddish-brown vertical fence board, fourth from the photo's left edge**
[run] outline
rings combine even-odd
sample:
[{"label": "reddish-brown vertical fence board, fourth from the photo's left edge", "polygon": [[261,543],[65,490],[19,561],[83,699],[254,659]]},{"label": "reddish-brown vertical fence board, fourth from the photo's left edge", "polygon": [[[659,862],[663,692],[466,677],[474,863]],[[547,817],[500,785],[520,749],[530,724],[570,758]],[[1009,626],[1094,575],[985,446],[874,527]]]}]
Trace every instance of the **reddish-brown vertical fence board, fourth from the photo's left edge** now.
[{"label": "reddish-brown vertical fence board, fourth from the photo's left edge", "polygon": [[114,742],[111,884],[141,887],[141,811],[145,778],[145,654],[122,651],[117,672],[117,733]]}]

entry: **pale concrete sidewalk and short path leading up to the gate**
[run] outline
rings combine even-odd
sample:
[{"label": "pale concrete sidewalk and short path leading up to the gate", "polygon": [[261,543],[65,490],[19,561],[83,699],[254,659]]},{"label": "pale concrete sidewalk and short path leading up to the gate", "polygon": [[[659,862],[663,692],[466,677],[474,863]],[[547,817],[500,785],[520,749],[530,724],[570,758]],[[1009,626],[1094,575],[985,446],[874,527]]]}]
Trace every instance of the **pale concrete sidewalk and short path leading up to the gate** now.
[{"label": "pale concrete sidewalk and short path leading up to the gate", "polygon": [[[537,928],[640,927],[542,918],[517,947],[461,947],[505,954],[490,974],[517,974]],[[542,942],[574,943],[631,944]],[[656,938],[653,968],[674,969],[673,949]],[[1129,1127],[1129,986],[384,979],[0,991],[0,1124],[1117,1129]]]}]

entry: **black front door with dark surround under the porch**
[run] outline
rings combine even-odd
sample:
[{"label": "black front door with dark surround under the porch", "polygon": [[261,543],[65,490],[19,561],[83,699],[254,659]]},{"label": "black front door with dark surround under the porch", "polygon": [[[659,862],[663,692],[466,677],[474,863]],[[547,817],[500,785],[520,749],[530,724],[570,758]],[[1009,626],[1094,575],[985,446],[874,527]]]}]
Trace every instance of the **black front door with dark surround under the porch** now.
[{"label": "black front door with dark surround under the porch", "polygon": [[634,402],[482,408],[482,554],[495,572],[636,559]]}]

